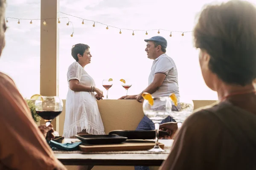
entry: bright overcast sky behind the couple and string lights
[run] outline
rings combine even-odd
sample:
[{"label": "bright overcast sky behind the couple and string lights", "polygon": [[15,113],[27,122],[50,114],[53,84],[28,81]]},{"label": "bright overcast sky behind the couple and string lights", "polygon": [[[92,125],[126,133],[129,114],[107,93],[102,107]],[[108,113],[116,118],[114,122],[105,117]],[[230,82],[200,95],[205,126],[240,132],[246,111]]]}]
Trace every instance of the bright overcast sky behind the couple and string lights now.
[{"label": "bright overcast sky behind the couple and string lights", "polygon": [[[118,28],[166,29],[171,31],[192,31],[195,18],[205,3],[212,0],[60,0],[60,11],[88,20],[94,20]],[[220,2],[220,1],[219,1]],[[255,2],[255,0],[251,0]],[[7,0],[6,17],[40,18],[40,0]],[[85,70],[102,87],[102,80],[112,78],[114,85],[109,98],[125,95],[119,79],[130,78],[133,85],[128,94],[138,94],[148,85],[153,60],[147,58],[144,39],[160,35],[168,41],[166,54],[177,65],[180,94],[188,99],[217,99],[215,92],[205,85],[198,63],[198,50],[193,47],[192,33],[170,31],[132,31],[111,28],[84,21],[65,14],[74,25],[67,26],[67,19],[61,19],[59,26],[60,96],[67,95],[67,68],[75,60],[70,48],[76,43],[90,46],[92,61]],[[24,97],[40,93],[40,21],[9,19],[6,32],[6,48],[0,59],[0,71],[12,77]]]}]

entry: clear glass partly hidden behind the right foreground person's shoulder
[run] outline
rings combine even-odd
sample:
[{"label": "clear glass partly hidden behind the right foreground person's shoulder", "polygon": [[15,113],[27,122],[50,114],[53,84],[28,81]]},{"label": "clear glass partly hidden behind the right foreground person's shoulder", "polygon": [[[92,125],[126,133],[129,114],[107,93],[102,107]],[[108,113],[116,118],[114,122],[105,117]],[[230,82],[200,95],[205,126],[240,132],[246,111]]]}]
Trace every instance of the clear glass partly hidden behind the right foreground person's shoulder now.
[{"label": "clear glass partly hidden behind the right foreground person's shoulder", "polygon": [[178,127],[185,121],[185,119],[191,115],[194,111],[194,103],[192,100],[177,98],[177,106],[175,106],[174,102],[172,102],[172,111],[169,112],[169,115],[178,122]]}]

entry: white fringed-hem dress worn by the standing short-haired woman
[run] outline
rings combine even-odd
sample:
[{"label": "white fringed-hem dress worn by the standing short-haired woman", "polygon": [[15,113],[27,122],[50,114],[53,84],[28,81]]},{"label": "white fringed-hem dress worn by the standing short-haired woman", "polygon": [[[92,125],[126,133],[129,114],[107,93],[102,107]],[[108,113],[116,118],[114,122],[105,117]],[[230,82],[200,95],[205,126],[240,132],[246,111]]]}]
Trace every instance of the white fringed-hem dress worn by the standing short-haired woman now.
[{"label": "white fringed-hem dress worn by the standing short-haired woman", "polygon": [[[93,78],[78,62],[73,62],[68,68],[67,82],[71,79],[77,79],[82,85],[95,86]],[[69,88],[63,136],[69,138],[84,129],[93,135],[105,134],[95,94],[85,91],[75,92]]]}]

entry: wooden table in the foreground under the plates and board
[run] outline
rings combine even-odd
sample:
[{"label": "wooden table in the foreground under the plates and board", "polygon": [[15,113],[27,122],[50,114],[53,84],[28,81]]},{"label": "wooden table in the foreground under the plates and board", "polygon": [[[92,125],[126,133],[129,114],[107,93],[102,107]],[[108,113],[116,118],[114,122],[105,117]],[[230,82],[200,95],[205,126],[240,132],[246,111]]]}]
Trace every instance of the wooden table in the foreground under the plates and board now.
[{"label": "wooden table in the foreground under the plates and board", "polygon": [[[159,140],[171,146],[173,140]],[[64,165],[160,166],[169,153],[55,153]]]}]

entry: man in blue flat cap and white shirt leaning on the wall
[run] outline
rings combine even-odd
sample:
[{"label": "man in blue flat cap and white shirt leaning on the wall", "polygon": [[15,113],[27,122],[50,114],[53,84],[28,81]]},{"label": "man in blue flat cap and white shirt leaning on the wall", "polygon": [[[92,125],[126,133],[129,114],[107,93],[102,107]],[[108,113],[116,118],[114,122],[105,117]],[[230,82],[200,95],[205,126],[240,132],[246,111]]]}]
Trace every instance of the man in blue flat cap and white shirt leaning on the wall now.
[{"label": "man in blue flat cap and white shirt leaning on the wall", "polygon": [[[137,99],[141,102],[143,92],[148,92],[152,96],[169,96],[175,93],[180,96],[178,87],[178,72],[173,59],[166,55],[167,41],[164,37],[155,36],[145,40],[147,42],[145,51],[149,59],[154,59],[151,72],[148,77],[148,87],[138,95],[122,96],[119,99]],[[175,122],[168,116],[162,123]],[[144,116],[136,130],[154,130],[154,123]],[[148,167],[136,166],[135,170],[148,170]]]}]

